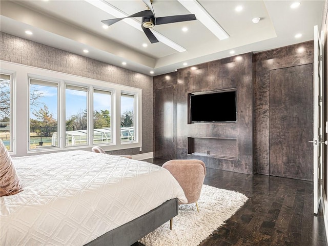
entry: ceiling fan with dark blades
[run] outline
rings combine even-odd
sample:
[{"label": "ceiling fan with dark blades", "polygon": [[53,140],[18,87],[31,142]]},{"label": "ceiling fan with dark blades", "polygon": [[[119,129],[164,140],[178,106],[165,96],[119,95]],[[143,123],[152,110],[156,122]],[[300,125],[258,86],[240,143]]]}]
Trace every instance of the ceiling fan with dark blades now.
[{"label": "ceiling fan with dark blades", "polygon": [[153,1],[152,0],[142,0],[148,7],[148,10],[140,11],[138,13],[132,14],[127,17],[122,18],[114,18],[114,19],[106,19],[101,20],[107,26],[113,25],[121,19],[131,18],[131,17],[142,17],[141,28],[145,32],[148,37],[150,43],[154,44],[158,42],[158,39],[151,32],[150,28],[153,28],[155,25],[161,24],[169,24],[175,22],[187,22],[189,20],[195,20],[196,16],[194,14],[182,14],[182,15],[172,15],[172,16],[164,16],[164,17],[155,17],[155,12],[153,9]]}]

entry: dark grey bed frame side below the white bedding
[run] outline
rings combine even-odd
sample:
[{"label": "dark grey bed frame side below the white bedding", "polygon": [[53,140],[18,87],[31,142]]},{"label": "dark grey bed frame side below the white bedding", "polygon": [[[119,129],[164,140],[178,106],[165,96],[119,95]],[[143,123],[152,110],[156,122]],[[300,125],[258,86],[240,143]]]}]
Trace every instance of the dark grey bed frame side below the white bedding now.
[{"label": "dark grey bed frame side below the white bedding", "polygon": [[178,199],[174,198],[112,231],[101,235],[85,246],[130,246],[178,214]]}]

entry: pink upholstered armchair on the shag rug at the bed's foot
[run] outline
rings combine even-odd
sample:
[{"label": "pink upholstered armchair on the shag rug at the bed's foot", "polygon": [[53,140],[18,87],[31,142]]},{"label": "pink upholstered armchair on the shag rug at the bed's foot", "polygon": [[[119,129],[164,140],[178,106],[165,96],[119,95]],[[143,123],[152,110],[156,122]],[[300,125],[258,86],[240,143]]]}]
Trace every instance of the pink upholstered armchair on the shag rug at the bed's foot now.
[{"label": "pink upholstered armchair on the shag rug at the bed's foot", "polygon": [[169,160],[162,166],[170,171],[181,186],[189,203],[196,203],[200,197],[201,188],[206,176],[206,167],[201,160]]}]

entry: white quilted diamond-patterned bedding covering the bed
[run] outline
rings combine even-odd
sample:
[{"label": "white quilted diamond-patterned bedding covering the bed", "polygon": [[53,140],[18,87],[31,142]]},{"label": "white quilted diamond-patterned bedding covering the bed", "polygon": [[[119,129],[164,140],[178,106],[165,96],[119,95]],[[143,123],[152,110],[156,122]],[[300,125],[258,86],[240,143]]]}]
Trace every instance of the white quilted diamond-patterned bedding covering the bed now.
[{"label": "white quilted diamond-patterned bedding covering the bed", "polygon": [[0,197],[0,245],[84,245],[187,201],[169,171],[144,161],[87,151],[12,159],[24,191]]}]

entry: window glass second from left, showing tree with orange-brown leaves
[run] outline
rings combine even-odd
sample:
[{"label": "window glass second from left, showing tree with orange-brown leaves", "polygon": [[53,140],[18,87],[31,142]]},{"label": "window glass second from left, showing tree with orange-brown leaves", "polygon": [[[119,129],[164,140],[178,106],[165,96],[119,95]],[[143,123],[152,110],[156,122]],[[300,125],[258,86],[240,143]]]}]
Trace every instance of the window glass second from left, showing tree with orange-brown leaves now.
[{"label": "window glass second from left, showing tree with orange-brown leaves", "polygon": [[57,105],[57,83],[30,79],[30,150],[58,147]]}]

